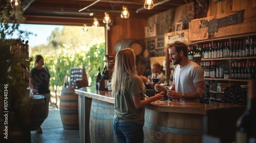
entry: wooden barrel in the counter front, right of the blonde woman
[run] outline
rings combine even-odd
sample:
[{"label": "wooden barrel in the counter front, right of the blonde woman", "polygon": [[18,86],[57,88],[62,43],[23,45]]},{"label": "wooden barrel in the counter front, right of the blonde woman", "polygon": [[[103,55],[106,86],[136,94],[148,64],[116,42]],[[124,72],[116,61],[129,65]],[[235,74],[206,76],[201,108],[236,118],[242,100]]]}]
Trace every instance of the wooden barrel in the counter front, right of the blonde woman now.
[{"label": "wooden barrel in the counter front, right of the blonde woman", "polygon": [[203,115],[145,109],[145,142],[202,142]]}]

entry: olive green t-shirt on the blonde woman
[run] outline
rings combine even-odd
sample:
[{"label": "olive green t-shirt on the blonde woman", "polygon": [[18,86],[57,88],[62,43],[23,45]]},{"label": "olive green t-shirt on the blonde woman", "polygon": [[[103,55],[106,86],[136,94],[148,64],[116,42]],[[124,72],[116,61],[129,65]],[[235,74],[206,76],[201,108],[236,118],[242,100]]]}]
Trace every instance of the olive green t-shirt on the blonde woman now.
[{"label": "olive green t-shirt on the blonde woman", "polygon": [[137,110],[133,103],[135,94],[140,93],[141,100],[143,99],[143,87],[141,87],[140,77],[129,76],[124,78],[125,89],[120,94],[115,95],[115,115],[116,120],[135,122],[144,125],[144,108]]}]

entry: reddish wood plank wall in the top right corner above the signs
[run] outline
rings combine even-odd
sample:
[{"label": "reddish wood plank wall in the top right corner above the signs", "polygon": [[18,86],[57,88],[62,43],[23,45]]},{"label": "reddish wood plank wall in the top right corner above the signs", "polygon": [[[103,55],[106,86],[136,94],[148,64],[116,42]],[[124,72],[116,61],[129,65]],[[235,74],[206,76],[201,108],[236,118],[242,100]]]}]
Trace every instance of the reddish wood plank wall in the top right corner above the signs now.
[{"label": "reddish wood plank wall in the top right corner above the signs", "polygon": [[256,0],[222,0],[218,3],[210,1],[207,17],[252,7],[256,7]]}]

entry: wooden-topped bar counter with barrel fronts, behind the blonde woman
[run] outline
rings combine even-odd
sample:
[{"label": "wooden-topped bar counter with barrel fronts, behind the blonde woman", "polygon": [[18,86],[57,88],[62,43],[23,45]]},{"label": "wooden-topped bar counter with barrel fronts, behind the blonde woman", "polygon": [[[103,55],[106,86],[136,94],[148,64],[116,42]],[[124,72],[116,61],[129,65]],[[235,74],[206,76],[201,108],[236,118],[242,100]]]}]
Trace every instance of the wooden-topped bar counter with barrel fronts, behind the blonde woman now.
[{"label": "wooden-topped bar counter with barrel fronts, behind the blonde woman", "polygon": [[[79,95],[80,142],[117,142],[111,91],[82,87],[75,93]],[[204,134],[232,142],[244,110],[245,106],[228,103],[151,103],[145,107],[144,142],[202,142]]]}]

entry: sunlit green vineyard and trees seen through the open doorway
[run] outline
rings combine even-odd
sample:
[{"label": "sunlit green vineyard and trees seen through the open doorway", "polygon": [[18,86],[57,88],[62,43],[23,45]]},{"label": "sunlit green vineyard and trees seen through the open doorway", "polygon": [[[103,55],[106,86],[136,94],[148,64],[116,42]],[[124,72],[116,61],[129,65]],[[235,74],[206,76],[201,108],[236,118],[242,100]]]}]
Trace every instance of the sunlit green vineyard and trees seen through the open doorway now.
[{"label": "sunlit green vineyard and trees seen through the open doorway", "polygon": [[44,57],[50,71],[52,88],[63,85],[64,77],[70,77],[72,67],[84,67],[89,85],[96,84],[95,74],[98,67],[103,67],[102,59],[105,56],[104,28],[89,28],[88,33],[81,33],[81,29],[71,26],[65,26],[62,30],[55,29],[48,37],[48,45],[32,49],[33,57]]}]

